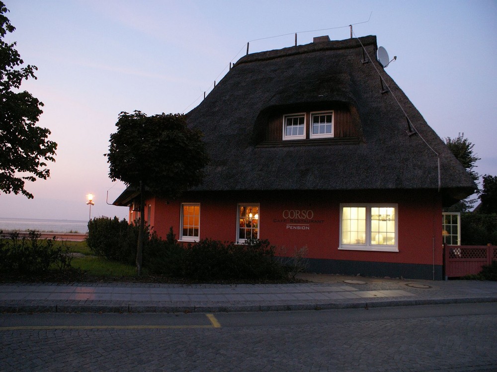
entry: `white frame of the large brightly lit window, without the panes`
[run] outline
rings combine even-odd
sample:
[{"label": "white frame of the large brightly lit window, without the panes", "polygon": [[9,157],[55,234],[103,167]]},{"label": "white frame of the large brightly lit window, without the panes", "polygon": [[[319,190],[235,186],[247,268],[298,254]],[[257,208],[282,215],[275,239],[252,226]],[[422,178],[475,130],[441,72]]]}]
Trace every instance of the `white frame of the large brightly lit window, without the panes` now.
[{"label": "white frame of the large brightly lit window, without the panes", "polygon": [[[364,244],[343,244],[342,243],[342,212],[344,207],[364,207],[366,208],[366,232]],[[371,209],[372,208],[395,208],[395,238],[393,245],[387,244],[371,244]],[[383,204],[383,203],[344,203],[340,204],[340,240],[338,249],[345,250],[368,250],[368,251],[383,251],[383,252],[398,252],[399,251],[399,206],[398,204]]]}]

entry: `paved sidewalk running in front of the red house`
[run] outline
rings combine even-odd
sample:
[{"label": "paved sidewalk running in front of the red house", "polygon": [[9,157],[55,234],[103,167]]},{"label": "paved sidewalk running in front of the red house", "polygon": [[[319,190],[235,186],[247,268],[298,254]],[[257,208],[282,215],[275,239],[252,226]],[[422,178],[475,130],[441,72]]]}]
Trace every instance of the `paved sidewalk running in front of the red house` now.
[{"label": "paved sidewalk running in front of the red house", "polygon": [[[497,282],[302,274],[298,284],[4,283],[0,312],[219,312],[497,302]],[[497,306],[497,305],[496,305]]]}]

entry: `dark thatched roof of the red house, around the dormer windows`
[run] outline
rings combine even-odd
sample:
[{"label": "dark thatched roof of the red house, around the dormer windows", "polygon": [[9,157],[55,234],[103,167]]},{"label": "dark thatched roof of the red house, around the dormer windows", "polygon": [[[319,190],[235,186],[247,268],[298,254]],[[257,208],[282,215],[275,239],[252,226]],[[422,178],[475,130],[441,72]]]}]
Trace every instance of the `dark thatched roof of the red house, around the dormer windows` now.
[{"label": "dark thatched roof of the red house, around the dormer windows", "polygon": [[[204,132],[211,157],[195,190],[440,188],[446,199],[471,194],[475,184],[376,61],[376,51],[376,37],[367,36],[240,59],[187,114],[189,125]],[[382,92],[386,85],[373,64],[391,92]],[[355,140],[260,142],[265,112],[337,104],[350,108]]]}]

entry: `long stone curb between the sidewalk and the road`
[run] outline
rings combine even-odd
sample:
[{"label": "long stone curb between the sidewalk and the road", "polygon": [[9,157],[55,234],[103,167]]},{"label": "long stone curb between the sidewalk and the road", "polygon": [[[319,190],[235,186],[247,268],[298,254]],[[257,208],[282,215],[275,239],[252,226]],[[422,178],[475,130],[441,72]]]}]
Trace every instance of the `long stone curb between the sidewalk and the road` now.
[{"label": "long stone curb between the sidewalk and the road", "polygon": [[0,305],[0,313],[189,313],[189,312],[265,312],[265,311],[302,311],[302,310],[341,310],[390,308],[399,306],[450,305],[497,303],[497,297],[439,298],[418,300],[386,300],[376,302],[344,302],[314,304],[270,304],[270,305],[200,305],[200,306],[141,306],[141,305]]}]

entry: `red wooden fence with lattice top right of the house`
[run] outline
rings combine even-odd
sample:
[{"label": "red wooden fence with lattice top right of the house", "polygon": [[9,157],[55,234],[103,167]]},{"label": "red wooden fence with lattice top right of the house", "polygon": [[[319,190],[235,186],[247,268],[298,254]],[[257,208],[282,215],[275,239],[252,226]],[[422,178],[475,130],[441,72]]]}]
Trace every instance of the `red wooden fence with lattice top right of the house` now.
[{"label": "red wooden fence with lattice top right of the house", "polygon": [[482,266],[497,261],[497,246],[445,246],[445,277],[478,274]]}]

